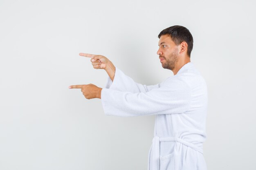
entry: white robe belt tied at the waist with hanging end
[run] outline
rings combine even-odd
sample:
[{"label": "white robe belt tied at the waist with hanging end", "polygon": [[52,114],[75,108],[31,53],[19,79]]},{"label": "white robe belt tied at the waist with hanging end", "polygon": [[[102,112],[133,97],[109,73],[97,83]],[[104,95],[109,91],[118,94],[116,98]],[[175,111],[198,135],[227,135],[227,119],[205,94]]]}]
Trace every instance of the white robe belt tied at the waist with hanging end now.
[{"label": "white robe belt tied at the waist with hanging end", "polygon": [[151,170],[159,170],[159,143],[161,142],[165,142],[165,141],[176,141],[176,142],[179,142],[181,144],[184,144],[186,146],[189,146],[191,147],[192,149],[194,150],[197,150],[198,152],[202,153],[203,154],[203,150],[202,148],[198,147],[198,146],[195,146],[194,144],[191,144],[187,141],[184,141],[180,138],[177,138],[177,137],[158,137],[158,136],[155,136],[153,138],[153,148],[152,148],[152,169]]}]

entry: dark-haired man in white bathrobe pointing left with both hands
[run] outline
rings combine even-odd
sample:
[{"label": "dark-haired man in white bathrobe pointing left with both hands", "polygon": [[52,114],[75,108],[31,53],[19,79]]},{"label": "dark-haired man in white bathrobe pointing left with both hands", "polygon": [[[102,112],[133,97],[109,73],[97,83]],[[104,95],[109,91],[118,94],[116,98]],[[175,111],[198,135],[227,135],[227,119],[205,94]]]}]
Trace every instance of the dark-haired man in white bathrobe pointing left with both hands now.
[{"label": "dark-haired man in white bathrobe pointing left with both hands", "polygon": [[171,26],[158,35],[160,62],[174,76],[156,85],[134,82],[102,55],[91,57],[94,68],[105,69],[105,88],[74,85],[87,99],[100,98],[106,115],[156,115],[148,170],[206,170],[203,142],[206,139],[207,86],[190,61],[193,37],[184,26]]}]

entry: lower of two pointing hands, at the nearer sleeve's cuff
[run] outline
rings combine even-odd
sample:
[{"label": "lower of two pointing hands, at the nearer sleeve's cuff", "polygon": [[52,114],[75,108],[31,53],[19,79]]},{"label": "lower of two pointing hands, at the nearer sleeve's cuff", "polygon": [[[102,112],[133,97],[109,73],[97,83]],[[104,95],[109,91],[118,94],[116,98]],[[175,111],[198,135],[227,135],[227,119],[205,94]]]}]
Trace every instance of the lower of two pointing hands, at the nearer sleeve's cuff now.
[{"label": "lower of two pointing hands, at the nearer sleeve's cuff", "polygon": [[93,99],[93,98],[101,99],[102,88],[99,88],[94,84],[72,85],[72,86],[69,86],[68,88],[81,88],[81,92],[83,93],[86,99]]}]

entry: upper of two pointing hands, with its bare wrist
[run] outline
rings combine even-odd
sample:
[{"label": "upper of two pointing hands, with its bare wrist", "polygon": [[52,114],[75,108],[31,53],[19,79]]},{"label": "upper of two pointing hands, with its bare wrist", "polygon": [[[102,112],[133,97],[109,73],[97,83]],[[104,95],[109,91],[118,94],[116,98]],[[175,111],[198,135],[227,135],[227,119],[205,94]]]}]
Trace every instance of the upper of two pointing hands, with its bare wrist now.
[{"label": "upper of two pointing hands, with its bare wrist", "polygon": [[93,68],[104,69],[108,73],[110,79],[113,81],[115,77],[116,69],[114,64],[112,64],[112,62],[108,60],[107,57],[103,55],[95,55],[95,54],[87,54],[87,53],[79,53],[79,55],[84,57],[90,57]]}]

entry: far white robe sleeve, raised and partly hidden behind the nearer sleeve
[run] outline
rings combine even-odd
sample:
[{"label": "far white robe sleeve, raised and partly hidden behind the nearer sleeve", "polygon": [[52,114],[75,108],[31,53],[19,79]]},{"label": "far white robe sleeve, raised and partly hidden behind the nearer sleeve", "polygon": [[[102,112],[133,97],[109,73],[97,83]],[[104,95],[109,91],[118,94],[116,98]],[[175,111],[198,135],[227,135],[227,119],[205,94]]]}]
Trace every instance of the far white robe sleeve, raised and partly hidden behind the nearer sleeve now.
[{"label": "far white robe sleeve, raised and partly hidden behind the nearer sleeve", "polygon": [[125,75],[119,68],[116,67],[115,71],[115,77],[112,80],[108,76],[107,83],[105,88],[110,88],[112,90],[117,90],[117,91],[126,91],[126,92],[131,92],[131,93],[139,93],[139,92],[148,92],[153,88],[159,88],[160,84],[155,84],[155,85],[143,85],[134,82],[134,80]]}]

